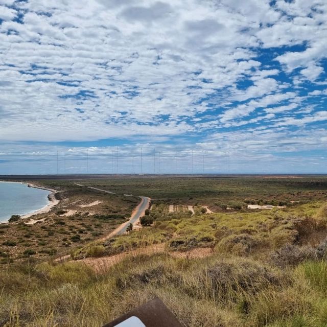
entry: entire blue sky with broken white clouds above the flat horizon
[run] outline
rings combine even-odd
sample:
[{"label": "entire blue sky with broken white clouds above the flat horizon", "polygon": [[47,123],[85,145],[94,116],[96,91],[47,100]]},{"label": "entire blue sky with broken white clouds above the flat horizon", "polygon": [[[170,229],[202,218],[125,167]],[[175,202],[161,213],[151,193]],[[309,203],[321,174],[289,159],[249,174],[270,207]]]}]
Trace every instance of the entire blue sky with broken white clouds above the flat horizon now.
[{"label": "entire blue sky with broken white clouds above the flat horizon", "polygon": [[326,173],[326,38],[325,0],[0,0],[0,174]]}]

